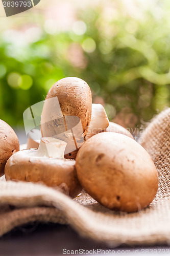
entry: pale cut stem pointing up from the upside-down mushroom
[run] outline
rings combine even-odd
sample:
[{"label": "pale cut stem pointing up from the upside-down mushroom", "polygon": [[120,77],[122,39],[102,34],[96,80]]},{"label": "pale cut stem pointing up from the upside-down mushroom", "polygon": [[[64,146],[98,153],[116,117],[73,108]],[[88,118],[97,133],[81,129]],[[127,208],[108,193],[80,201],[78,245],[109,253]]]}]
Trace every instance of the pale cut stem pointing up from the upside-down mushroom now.
[{"label": "pale cut stem pointing up from the upside-down mushroom", "polygon": [[36,156],[48,158],[64,159],[64,151],[67,143],[53,137],[43,137],[40,140],[40,145]]}]

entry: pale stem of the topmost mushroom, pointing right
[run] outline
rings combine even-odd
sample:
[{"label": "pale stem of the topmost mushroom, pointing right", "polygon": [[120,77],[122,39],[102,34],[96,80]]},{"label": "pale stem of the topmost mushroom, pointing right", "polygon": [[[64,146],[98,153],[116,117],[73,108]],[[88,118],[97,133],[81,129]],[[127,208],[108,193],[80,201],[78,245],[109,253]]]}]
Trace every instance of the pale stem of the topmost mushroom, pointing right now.
[{"label": "pale stem of the topmost mushroom, pointing right", "polygon": [[101,104],[92,104],[91,121],[88,127],[86,139],[91,136],[103,132],[109,125],[109,119],[106,111]]}]

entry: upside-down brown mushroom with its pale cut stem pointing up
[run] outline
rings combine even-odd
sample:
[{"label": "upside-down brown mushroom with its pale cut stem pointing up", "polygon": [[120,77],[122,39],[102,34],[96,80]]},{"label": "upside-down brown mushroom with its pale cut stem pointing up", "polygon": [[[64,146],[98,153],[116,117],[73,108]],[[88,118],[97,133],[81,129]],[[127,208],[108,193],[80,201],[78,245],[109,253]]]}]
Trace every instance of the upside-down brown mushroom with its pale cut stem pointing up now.
[{"label": "upside-down brown mushroom with its pale cut stem pointing up", "polygon": [[42,182],[59,187],[74,198],[81,192],[75,160],[64,159],[66,142],[56,138],[41,138],[38,150],[19,151],[5,166],[6,180]]}]

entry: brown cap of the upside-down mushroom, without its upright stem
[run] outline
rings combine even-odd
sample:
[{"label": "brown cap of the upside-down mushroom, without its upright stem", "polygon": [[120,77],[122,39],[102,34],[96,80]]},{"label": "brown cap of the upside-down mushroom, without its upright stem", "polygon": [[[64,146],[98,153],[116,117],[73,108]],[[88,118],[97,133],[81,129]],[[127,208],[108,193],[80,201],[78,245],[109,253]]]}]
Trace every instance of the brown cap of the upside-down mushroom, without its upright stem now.
[{"label": "brown cap of the upside-down mushroom, without its upright stem", "polygon": [[[82,190],[77,179],[74,160],[32,158],[17,152],[9,158],[5,166],[6,180],[42,183],[61,188],[70,197],[76,197]],[[32,149],[32,152],[37,150]]]}]

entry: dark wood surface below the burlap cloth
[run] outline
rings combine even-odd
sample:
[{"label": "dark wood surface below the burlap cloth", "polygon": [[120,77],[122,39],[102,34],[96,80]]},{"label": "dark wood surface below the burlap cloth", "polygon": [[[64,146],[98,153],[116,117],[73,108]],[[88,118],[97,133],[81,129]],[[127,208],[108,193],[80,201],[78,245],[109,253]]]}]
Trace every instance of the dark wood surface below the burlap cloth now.
[{"label": "dark wood surface below the burlap cloth", "polygon": [[[128,255],[143,255],[141,249],[151,250],[151,255],[163,255],[170,254],[170,247],[154,246],[154,247],[128,247],[126,245],[118,247],[110,247],[105,243],[95,242],[86,238],[82,238],[79,234],[67,225],[52,224],[52,223],[31,223],[27,226],[17,227],[11,232],[5,234],[0,238],[0,255],[10,256],[56,256],[64,255],[63,249],[66,250],[97,250],[103,249],[108,251],[114,250],[114,254],[128,254]],[[153,253],[154,249],[157,249],[158,253]],[[160,250],[166,250],[163,253]],[[167,253],[167,250],[169,253]],[[136,252],[135,252],[136,251]],[[107,253],[106,253],[107,254]],[[106,255],[101,254],[98,255]],[[68,255],[68,254],[65,254]],[[70,254],[71,255],[71,254]],[[78,255],[78,254],[76,254]],[[89,254],[97,255],[97,254]],[[148,254],[147,254],[148,255]]]}]

